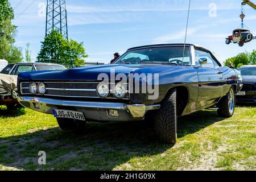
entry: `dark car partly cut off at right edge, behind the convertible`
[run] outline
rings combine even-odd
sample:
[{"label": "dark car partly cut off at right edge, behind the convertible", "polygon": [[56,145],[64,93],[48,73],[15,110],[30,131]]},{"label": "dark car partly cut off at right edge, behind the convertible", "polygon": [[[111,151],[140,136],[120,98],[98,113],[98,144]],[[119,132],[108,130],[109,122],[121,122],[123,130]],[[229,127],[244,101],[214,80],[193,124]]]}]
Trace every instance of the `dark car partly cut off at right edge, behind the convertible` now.
[{"label": "dark car partly cut off at right edge, behind the convertible", "polygon": [[243,88],[237,93],[237,102],[256,103],[256,65],[246,65],[238,69],[242,74]]}]

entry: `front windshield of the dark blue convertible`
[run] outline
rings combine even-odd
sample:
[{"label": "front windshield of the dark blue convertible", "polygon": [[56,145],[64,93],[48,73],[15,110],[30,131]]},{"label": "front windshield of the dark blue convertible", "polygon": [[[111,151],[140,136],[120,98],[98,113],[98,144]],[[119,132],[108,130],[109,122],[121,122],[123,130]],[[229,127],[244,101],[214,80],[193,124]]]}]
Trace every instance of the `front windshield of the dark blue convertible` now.
[{"label": "front windshield of the dark blue convertible", "polygon": [[[157,47],[131,50],[119,57],[114,64],[142,64],[142,63],[173,63],[191,65],[190,48],[186,47]],[[183,63],[182,63],[183,61]]]}]

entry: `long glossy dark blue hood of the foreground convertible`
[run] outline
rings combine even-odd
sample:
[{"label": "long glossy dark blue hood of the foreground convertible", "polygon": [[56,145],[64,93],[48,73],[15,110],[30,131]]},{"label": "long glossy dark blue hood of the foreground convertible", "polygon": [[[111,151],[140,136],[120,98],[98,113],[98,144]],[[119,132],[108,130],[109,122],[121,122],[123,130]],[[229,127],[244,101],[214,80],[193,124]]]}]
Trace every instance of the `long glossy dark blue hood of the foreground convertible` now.
[{"label": "long glossy dark blue hood of the foreground convertible", "polygon": [[56,81],[90,81],[98,80],[98,75],[105,73],[111,76],[114,73],[115,76],[118,73],[123,73],[126,76],[130,73],[157,73],[158,69],[162,67],[168,67],[170,69],[178,69],[179,67],[174,65],[163,65],[163,64],[112,64],[112,65],[97,65],[80,67],[74,69],[68,69],[65,71],[47,71],[47,72],[30,72],[20,73],[19,78],[21,80],[56,80]]}]

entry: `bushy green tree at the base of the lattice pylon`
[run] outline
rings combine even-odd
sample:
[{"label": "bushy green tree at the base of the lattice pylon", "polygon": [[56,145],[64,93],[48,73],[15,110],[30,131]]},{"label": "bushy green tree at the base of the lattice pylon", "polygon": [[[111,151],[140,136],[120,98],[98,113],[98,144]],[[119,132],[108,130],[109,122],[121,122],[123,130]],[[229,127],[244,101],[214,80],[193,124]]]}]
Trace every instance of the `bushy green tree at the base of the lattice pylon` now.
[{"label": "bushy green tree at the base of the lattice pylon", "polygon": [[57,63],[71,68],[85,65],[85,57],[88,55],[85,53],[83,43],[65,40],[59,31],[52,30],[44,38],[37,59],[38,62]]}]

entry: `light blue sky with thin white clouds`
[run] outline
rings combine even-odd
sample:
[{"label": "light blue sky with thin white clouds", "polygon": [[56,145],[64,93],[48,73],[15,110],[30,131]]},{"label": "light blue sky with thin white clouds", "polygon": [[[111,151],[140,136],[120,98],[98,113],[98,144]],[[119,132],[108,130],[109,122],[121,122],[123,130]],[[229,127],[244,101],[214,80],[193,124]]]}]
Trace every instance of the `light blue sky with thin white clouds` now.
[{"label": "light blue sky with thin white clouds", "polygon": [[[88,62],[109,63],[113,53],[158,43],[183,43],[188,0],[66,0],[69,39],[84,42]],[[256,0],[252,0],[256,3]],[[241,24],[242,0],[192,0],[187,43],[200,44],[221,61],[256,49],[256,40],[239,47],[225,38]],[[10,0],[18,26],[16,46],[30,43],[32,58],[46,29],[46,0]],[[215,8],[216,7],[216,11]],[[245,25],[256,36],[256,11],[245,6]]]}]

